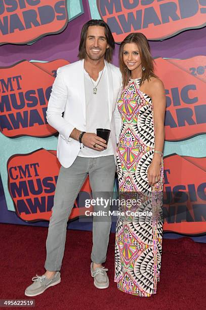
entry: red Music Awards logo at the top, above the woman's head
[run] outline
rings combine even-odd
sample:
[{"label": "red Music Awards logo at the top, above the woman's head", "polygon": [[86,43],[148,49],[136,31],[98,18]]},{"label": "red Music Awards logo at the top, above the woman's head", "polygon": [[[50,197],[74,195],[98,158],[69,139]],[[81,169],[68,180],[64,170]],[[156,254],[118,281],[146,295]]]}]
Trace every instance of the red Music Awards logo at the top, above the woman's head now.
[{"label": "red Music Awards logo at the top, above the woman's head", "polygon": [[202,0],[97,0],[97,7],[115,42],[130,32],[161,40],[205,25],[206,3]]}]

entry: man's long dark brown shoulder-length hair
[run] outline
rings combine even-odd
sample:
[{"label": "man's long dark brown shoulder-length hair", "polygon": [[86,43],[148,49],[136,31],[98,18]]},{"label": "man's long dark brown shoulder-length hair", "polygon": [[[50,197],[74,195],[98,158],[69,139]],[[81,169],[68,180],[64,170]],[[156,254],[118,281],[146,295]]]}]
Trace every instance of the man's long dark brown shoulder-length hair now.
[{"label": "man's long dark brown shoulder-length hair", "polygon": [[108,62],[111,62],[113,51],[115,48],[115,42],[114,42],[114,38],[111,33],[111,30],[109,29],[109,26],[101,19],[91,19],[81,29],[80,43],[78,47],[78,51],[79,51],[78,58],[85,59],[87,57],[85,44],[86,44],[88,28],[90,26],[104,27],[104,33],[106,36],[107,44],[109,45],[109,48],[106,50],[106,53],[105,53],[105,60]]}]

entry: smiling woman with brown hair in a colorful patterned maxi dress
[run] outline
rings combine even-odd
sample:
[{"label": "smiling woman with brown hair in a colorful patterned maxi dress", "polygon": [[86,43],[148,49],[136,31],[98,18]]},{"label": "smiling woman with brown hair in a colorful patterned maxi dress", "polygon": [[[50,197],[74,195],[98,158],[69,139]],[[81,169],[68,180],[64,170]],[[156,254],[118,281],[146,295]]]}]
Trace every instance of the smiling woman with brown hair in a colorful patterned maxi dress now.
[{"label": "smiling woman with brown hair in a colorful patterned maxi dress", "polygon": [[[117,172],[123,216],[116,226],[115,282],[125,293],[149,297],[159,281],[162,240],[164,113],[166,96],[154,74],[147,38],[131,33],[120,45],[122,126]],[[140,204],[128,204],[135,198]],[[130,211],[130,212],[128,212]],[[135,212],[131,212],[135,211]],[[151,211],[140,218],[137,211]],[[134,215],[135,214],[135,215]],[[144,213],[145,214],[145,213]]]}]

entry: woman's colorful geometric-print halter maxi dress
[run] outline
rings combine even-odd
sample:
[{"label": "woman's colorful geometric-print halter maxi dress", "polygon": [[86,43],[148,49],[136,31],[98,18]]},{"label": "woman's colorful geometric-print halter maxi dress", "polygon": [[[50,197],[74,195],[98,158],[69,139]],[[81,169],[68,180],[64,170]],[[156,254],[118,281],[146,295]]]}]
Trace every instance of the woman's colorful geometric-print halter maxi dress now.
[{"label": "woman's colorful geometric-print halter maxi dress", "polygon": [[[156,293],[161,265],[163,160],[160,181],[150,186],[147,169],[154,151],[153,107],[139,84],[140,79],[130,80],[118,100],[122,120],[117,147],[120,199],[136,198],[141,203],[120,206],[123,216],[118,216],[116,226],[114,281],[125,293],[149,297]],[[140,219],[137,211],[148,212]]]}]

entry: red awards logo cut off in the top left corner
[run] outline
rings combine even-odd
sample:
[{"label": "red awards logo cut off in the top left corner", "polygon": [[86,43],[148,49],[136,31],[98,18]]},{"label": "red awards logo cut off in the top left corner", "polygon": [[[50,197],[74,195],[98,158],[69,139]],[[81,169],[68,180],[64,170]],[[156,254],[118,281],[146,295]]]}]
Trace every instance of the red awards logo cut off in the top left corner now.
[{"label": "red awards logo cut off in the top left corner", "polygon": [[65,0],[0,0],[0,45],[25,44],[68,23]]}]

